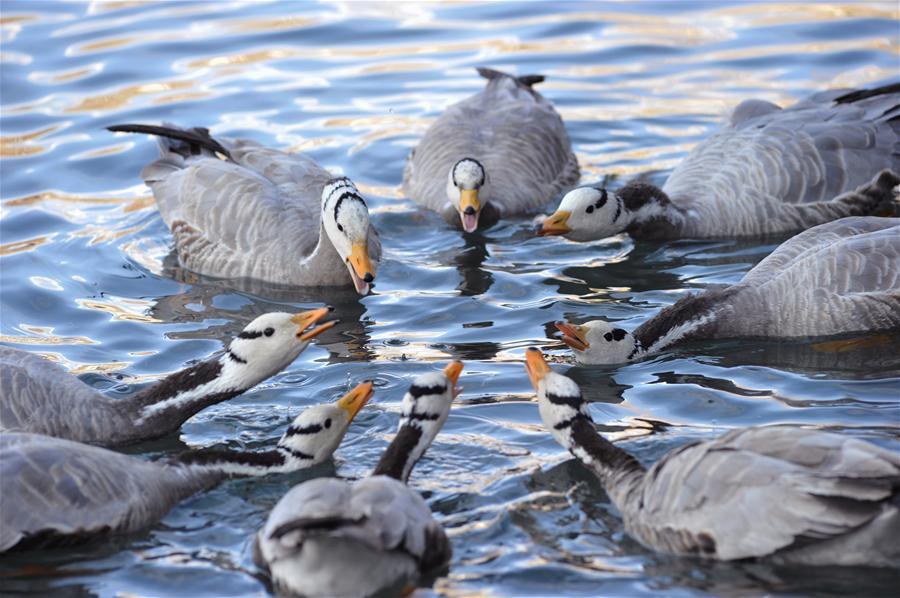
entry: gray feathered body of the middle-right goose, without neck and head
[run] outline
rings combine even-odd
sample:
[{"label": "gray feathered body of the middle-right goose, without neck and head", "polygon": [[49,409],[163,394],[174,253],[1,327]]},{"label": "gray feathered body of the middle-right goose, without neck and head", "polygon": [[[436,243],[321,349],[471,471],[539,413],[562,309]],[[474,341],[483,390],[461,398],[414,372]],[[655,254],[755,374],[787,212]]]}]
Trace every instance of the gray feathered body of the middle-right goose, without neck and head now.
[{"label": "gray feathered body of the middle-right goose, without neck and head", "polygon": [[900,328],[900,219],[844,218],[809,229],[748,272],[740,288],[723,333],[826,336]]}]

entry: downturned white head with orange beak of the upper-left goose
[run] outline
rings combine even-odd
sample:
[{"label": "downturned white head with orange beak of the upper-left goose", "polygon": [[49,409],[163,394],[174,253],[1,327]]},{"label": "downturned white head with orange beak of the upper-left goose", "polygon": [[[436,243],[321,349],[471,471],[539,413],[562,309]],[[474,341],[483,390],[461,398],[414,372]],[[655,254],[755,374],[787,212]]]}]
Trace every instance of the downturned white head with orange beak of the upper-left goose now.
[{"label": "downturned white head with orange beak of the upper-left goose", "polygon": [[375,280],[369,259],[369,209],[350,179],[332,179],[322,189],[322,226],[347,265],[356,292],[368,294]]}]

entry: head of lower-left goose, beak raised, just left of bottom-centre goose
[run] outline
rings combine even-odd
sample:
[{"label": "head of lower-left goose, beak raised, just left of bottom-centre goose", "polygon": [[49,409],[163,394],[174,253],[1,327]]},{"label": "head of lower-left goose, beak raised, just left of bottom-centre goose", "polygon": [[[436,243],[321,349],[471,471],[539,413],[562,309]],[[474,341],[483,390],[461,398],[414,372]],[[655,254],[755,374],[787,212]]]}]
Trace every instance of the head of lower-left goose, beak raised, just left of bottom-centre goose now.
[{"label": "head of lower-left goose, beak raised, just left of bottom-centre goose", "polygon": [[306,409],[294,419],[278,446],[290,455],[300,456],[305,466],[327,461],[344,439],[350,422],[371,397],[372,382],[366,381],[335,403]]}]

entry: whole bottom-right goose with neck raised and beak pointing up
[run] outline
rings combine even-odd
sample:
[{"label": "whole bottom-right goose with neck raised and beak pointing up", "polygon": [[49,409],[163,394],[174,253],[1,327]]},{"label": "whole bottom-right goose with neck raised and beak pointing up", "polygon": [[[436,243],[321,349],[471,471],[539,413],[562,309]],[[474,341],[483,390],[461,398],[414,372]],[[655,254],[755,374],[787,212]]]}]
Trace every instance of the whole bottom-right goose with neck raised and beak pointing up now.
[{"label": "whole bottom-right goose with neck raised and beak pointing up", "polygon": [[900,455],[797,426],[693,442],[649,469],[597,433],[578,385],[526,369],[554,439],[594,472],[646,547],[718,560],[900,566]]}]

